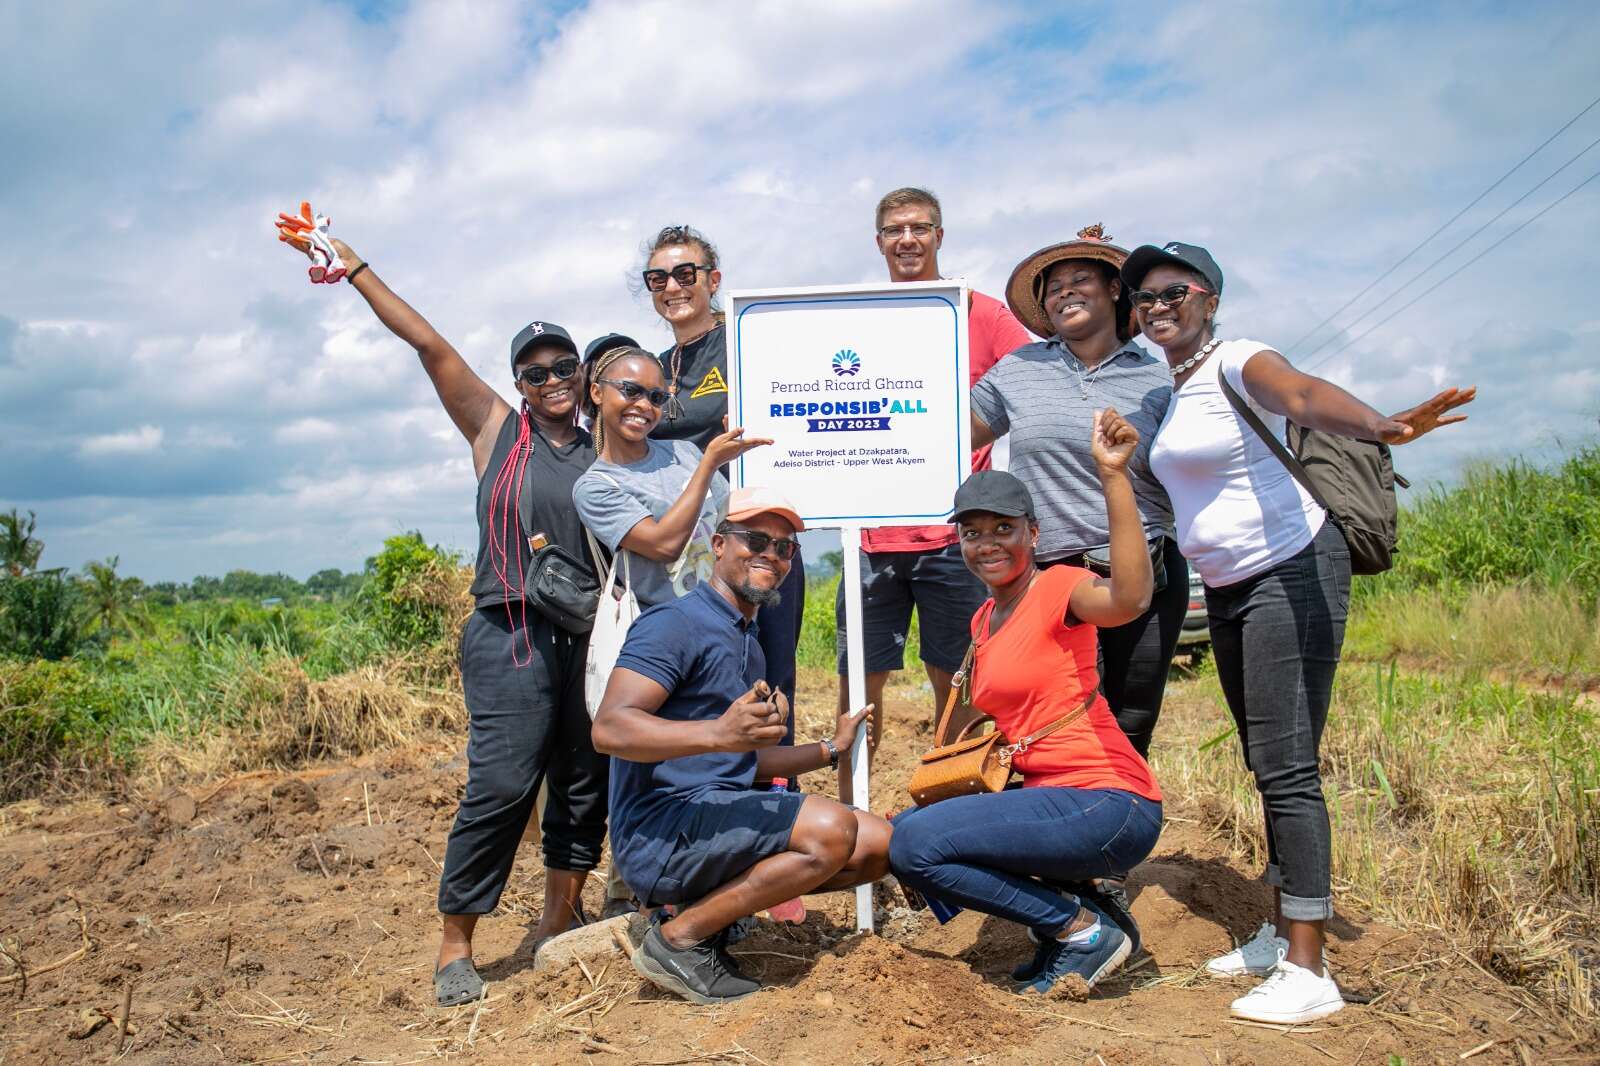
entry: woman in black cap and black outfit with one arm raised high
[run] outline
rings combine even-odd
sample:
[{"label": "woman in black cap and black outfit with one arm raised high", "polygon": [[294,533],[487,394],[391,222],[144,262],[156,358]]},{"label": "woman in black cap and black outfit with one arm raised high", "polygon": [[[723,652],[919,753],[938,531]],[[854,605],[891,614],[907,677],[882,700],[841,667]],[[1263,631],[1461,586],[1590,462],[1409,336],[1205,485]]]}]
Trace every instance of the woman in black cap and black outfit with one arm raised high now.
[{"label": "woman in black cap and black outfit with one arm raised high", "polygon": [[[478,916],[499,903],[541,779],[544,909],[536,941],[584,922],[582,888],[600,863],[608,762],[589,739],[584,709],[587,634],[574,634],[530,602],[533,551],[557,544],[594,567],[571,487],[595,458],[576,426],[578,347],[554,322],[530,322],[510,343],[512,410],[459,352],[341,240],[346,280],[390,333],[416,349],[450,419],[472,447],[478,480],[477,610],[461,635],[467,703],[467,787],[445,845],[438,880],[443,938],[434,968],[442,1007],[483,992],[472,965]],[[542,538],[542,539],[541,539]]]}]

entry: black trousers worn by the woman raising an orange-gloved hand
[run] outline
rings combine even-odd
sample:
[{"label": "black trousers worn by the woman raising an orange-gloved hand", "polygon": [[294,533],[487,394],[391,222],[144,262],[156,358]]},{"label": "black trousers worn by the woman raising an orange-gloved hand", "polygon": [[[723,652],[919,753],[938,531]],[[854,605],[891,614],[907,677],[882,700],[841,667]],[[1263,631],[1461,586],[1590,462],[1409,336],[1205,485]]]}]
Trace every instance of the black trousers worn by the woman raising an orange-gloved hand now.
[{"label": "black trousers worn by the woman raising an orange-gloved hand", "polygon": [[445,845],[442,914],[488,914],[499,903],[546,773],[544,864],[590,871],[600,863],[610,762],[589,738],[589,639],[530,607],[525,643],[520,608],[512,621],[506,607],[482,607],[461,634],[467,789]]}]

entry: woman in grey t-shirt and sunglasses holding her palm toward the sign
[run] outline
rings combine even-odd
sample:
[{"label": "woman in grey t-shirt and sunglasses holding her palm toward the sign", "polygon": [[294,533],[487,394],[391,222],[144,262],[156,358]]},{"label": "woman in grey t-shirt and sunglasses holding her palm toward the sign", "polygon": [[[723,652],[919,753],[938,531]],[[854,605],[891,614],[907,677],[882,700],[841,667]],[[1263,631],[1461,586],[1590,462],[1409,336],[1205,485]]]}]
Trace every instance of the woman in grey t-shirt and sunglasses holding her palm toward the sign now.
[{"label": "woman in grey t-shirt and sunglasses holding her palm toward the sign", "polygon": [[589,378],[595,463],[573,487],[578,515],[610,551],[629,554],[640,607],[674,600],[710,573],[710,536],[728,501],[718,472],[750,448],[771,443],[731,429],[706,451],[686,440],[653,440],[667,403],[661,363],[642,347],[600,355]]}]

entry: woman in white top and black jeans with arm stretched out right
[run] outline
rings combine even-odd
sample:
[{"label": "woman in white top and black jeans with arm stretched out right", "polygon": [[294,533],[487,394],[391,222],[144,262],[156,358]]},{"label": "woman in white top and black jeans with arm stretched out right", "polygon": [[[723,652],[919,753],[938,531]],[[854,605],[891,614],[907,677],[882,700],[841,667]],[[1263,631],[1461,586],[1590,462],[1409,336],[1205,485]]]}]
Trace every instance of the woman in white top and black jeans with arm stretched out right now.
[{"label": "woman in white top and black jeans with arm stretched out right", "polygon": [[1474,389],[1446,389],[1379,415],[1294,370],[1256,341],[1213,335],[1222,271],[1205,248],[1146,245],[1123,285],[1144,335],[1173,368],[1173,402],[1150,467],[1173,501],[1178,544],[1206,586],[1218,679],[1266,812],[1274,920],[1208,970],[1267,976],[1232,1012],[1304,1023],[1344,1007],[1322,957],[1333,917],[1328,810],[1317,747],[1350,602],[1350,549],[1338,525],[1229,403],[1222,381],[1282,437],[1285,421],[1360,440],[1408,443],[1459,423]]}]

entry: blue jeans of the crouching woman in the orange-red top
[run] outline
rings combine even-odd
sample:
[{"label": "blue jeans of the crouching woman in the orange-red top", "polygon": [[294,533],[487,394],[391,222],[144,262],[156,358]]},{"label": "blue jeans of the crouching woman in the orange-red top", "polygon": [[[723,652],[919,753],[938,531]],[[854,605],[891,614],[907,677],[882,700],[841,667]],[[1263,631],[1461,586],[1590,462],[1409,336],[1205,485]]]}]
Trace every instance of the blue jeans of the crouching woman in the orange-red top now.
[{"label": "blue jeans of the crouching woman in the orange-red top", "polygon": [[894,818],[890,868],[917,892],[1054,936],[1078,912],[1037,879],[1122,877],[1162,834],[1162,805],[1117,789],[958,795]]}]

